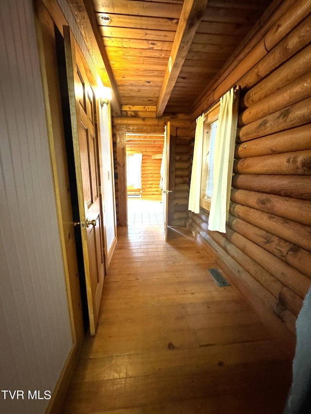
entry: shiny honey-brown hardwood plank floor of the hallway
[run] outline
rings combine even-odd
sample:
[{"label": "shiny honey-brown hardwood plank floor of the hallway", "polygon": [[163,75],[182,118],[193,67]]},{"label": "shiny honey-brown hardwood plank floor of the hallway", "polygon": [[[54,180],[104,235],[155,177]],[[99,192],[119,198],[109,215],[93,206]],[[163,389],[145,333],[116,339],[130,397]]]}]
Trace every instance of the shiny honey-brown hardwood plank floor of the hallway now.
[{"label": "shiny honey-brown hardwood plank floor of the hallway", "polygon": [[218,287],[214,260],[192,236],[119,228],[63,413],[282,413],[293,338],[234,285]]}]

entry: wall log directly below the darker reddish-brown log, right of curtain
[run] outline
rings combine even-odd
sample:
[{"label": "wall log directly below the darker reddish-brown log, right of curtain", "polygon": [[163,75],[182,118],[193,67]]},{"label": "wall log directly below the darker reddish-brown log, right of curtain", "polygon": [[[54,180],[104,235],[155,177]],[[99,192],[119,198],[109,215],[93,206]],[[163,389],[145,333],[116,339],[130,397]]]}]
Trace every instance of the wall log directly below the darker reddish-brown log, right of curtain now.
[{"label": "wall log directly below the darker reddish-brown log, right of curtain", "polygon": [[300,224],[310,225],[311,202],[272,194],[258,193],[232,188],[231,200],[237,204],[252,207],[257,210],[278,215],[297,221]]}]

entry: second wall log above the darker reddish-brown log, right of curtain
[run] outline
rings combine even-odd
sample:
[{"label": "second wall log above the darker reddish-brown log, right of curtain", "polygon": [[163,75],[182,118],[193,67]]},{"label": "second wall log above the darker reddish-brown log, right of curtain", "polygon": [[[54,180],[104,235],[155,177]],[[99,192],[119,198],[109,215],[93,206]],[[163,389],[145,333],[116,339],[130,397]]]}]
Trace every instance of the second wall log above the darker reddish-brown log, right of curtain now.
[{"label": "second wall log above the darker reddish-brown log, right of curtain", "polygon": [[311,124],[302,125],[291,130],[252,139],[247,141],[247,143],[237,144],[235,158],[248,158],[311,149],[310,137]]}]

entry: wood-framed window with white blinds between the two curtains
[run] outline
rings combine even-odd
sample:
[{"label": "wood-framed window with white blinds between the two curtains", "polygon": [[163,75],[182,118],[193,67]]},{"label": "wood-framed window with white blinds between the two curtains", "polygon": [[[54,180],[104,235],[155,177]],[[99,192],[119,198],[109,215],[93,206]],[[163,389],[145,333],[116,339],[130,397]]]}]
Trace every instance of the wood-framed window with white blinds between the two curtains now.
[{"label": "wood-framed window with white blinds between the two curtains", "polygon": [[214,148],[218,125],[219,103],[206,114],[204,121],[200,206],[209,211],[213,194]]}]

